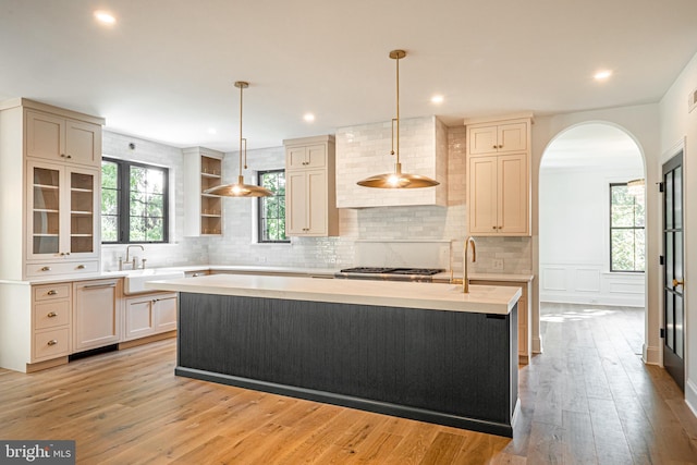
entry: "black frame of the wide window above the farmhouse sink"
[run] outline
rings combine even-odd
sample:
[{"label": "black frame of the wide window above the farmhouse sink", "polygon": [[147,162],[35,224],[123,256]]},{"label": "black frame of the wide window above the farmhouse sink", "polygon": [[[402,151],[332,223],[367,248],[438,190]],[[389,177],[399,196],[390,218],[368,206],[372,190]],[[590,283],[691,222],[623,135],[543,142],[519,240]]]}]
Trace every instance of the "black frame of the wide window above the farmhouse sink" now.
[{"label": "black frame of the wide window above the farmhouse sink", "polygon": [[[160,167],[157,164],[149,164],[139,161],[123,160],[119,158],[102,157],[102,161],[115,163],[118,166],[117,184],[119,189],[118,196],[118,217],[119,217],[119,231],[117,241],[102,241],[105,245],[118,245],[118,244],[169,244],[170,242],[170,170],[167,167]],[[131,231],[131,167],[155,169],[162,171],[162,241],[131,241],[130,237],[126,241],[126,232]],[[127,175],[123,174],[127,171]],[[101,194],[101,185],[99,192]],[[101,204],[101,203],[100,203]],[[101,207],[101,205],[100,205]],[[100,215],[101,217],[101,208]],[[101,228],[101,224],[100,224]]]}]

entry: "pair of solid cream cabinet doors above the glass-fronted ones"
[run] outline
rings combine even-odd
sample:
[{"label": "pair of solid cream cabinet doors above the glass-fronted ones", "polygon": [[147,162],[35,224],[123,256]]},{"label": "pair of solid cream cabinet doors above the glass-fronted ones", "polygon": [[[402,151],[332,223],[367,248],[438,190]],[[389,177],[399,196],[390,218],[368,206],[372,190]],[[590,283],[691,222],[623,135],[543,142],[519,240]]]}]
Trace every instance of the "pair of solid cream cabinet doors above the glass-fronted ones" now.
[{"label": "pair of solid cream cabinet doors above the glass-fronted ones", "polygon": [[44,111],[27,110],[26,156],[99,167],[101,125]]}]

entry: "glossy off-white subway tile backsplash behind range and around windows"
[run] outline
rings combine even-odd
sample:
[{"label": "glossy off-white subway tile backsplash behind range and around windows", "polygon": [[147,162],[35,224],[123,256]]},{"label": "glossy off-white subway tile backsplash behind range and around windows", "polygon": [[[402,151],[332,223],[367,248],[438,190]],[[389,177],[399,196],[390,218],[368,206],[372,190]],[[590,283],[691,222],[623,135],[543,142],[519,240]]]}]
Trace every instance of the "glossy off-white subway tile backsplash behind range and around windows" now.
[{"label": "glossy off-white subway tile backsplash behind range and around windows", "polygon": [[[439,180],[447,180],[448,204],[445,207],[429,205],[341,209],[340,236],[292,237],[290,244],[256,243],[254,221],[256,199],[249,198],[223,199],[223,236],[184,237],[182,150],[105,132],[103,155],[170,167],[174,199],[170,207],[171,211],[175,212],[171,232],[173,243],[146,245],[144,256],[148,260],[148,266],[211,264],[339,269],[360,265],[354,264],[356,240],[448,240],[452,242],[453,270],[462,272],[462,248],[466,225],[466,132],[464,126],[449,129],[442,124],[437,124],[436,131],[441,132],[436,139],[443,144],[439,150],[448,154],[447,163],[441,163],[444,168],[436,175]],[[135,149],[129,148],[130,143],[135,144]],[[246,182],[255,182],[257,171],[283,168],[285,163],[283,147],[249,150],[247,158],[249,169],[243,173]],[[237,170],[237,152],[225,154],[223,182],[234,181]],[[416,169],[412,171],[417,172]],[[341,178],[340,174],[339,179]],[[379,195],[379,193],[375,192],[371,195]],[[529,237],[477,237],[476,241],[477,262],[469,266],[473,272],[530,272],[533,265]],[[105,268],[113,269],[118,257],[124,255],[124,246],[103,246]],[[493,268],[494,259],[503,259],[503,270]]]}]

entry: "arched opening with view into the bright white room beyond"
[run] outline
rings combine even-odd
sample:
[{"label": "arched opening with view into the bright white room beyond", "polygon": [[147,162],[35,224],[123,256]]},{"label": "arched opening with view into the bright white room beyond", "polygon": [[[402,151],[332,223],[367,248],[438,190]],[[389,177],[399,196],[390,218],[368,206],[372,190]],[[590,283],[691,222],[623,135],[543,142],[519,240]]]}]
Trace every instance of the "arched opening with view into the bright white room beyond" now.
[{"label": "arched opening with view into the bright white room beyond", "polygon": [[627,315],[637,325],[627,338],[641,354],[645,189],[638,189],[641,197],[628,195],[626,184],[645,179],[640,147],[615,124],[575,124],[549,143],[538,191],[540,321],[634,309]]}]

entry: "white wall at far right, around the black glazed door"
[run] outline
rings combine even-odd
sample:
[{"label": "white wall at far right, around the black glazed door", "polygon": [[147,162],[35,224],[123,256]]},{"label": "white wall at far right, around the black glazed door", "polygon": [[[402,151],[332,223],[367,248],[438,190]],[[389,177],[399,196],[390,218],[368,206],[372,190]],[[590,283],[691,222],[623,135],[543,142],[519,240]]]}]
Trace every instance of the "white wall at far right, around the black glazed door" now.
[{"label": "white wall at far right, around the black glazed door", "polygon": [[[697,54],[685,66],[660,103],[660,157],[656,170],[684,144],[685,197],[685,399],[697,415],[697,110],[687,111],[687,96],[697,88]],[[660,231],[657,229],[657,231]]]}]

